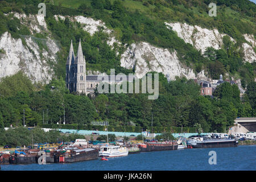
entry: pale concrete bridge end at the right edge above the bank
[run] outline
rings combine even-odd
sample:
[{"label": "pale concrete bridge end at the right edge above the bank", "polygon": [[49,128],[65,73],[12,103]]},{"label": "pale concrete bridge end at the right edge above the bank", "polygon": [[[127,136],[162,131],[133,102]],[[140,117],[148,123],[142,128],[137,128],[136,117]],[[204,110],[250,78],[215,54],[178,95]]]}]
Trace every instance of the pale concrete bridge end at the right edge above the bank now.
[{"label": "pale concrete bridge end at the right edge above the bank", "polygon": [[256,118],[236,118],[234,125],[231,130],[232,133],[256,132]]}]

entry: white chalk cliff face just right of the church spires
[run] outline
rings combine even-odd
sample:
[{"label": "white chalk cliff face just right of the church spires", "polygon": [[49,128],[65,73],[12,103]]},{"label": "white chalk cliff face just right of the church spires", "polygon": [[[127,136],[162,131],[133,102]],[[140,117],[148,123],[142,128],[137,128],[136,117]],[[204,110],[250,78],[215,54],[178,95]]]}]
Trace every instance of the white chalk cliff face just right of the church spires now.
[{"label": "white chalk cliff face just right of the church spires", "polygon": [[185,76],[188,79],[196,78],[190,68],[183,68],[176,52],[168,49],[157,48],[149,43],[133,43],[121,56],[121,66],[127,69],[135,69],[135,75],[142,78],[147,72],[162,72],[170,75],[171,80],[175,76]]}]

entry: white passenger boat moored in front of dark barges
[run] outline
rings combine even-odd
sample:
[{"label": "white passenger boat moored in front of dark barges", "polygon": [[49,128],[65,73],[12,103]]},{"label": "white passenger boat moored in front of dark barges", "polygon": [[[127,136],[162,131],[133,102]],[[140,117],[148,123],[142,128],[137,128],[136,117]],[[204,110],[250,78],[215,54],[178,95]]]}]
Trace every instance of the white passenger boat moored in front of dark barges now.
[{"label": "white passenger boat moored in front of dark barges", "polygon": [[100,157],[113,158],[113,157],[127,156],[128,152],[129,152],[129,149],[126,147],[105,145],[100,147],[100,151],[98,152],[98,155]]}]

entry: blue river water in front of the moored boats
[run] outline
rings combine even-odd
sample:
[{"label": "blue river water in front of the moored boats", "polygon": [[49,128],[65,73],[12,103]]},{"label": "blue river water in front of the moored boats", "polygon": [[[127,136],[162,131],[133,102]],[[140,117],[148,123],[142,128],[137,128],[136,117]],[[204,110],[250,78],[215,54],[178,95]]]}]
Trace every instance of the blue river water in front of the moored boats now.
[{"label": "blue river water in front of the moored boats", "polygon": [[[216,164],[209,164],[210,151],[216,152]],[[108,161],[102,161],[99,158],[98,160],[69,164],[5,164],[1,165],[1,168],[3,171],[255,171],[256,146],[141,152],[140,154],[111,158]]]}]

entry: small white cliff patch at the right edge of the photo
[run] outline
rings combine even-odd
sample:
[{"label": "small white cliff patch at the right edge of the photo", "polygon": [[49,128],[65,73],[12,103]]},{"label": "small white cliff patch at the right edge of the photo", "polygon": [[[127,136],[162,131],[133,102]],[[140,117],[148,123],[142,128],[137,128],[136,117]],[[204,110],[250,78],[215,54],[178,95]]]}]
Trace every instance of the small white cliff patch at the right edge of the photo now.
[{"label": "small white cliff patch at the right edge of the photo", "polygon": [[256,53],[254,51],[254,49],[256,47],[256,41],[255,41],[253,35],[245,34],[243,36],[244,36],[245,40],[247,42],[249,42],[249,44],[251,44],[251,45],[249,45],[247,43],[242,44],[243,52],[245,53],[245,56],[243,57],[243,59],[246,62],[253,63],[256,61]]}]

